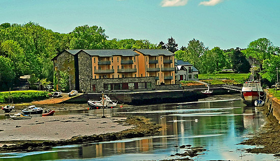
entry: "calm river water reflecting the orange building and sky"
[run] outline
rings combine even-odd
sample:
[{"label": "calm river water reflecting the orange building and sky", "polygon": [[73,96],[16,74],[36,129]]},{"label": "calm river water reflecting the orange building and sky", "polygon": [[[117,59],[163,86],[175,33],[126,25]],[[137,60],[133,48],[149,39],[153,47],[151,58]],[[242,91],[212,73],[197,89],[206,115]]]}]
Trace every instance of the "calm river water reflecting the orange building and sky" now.
[{"label": "calm river water reflecting the orange building and sky", "polygon": [[[71,111],[83,113],[84,110]],[[85,111],[102,116],[102,110]],[[57,114],[68,114],[61,112]],[[140,115],[166,127],[152,137],[87,145],[54,147],[50,151],[0,154],[0,160],[160,160],[183,153],[181,145],[203,146],[207,151],[195,160],[275,160],[271,154],[242,151],[251,146],[236,145],[258,130],[264,119],[254,107],[246,107],[240,95],[211,96],[192,103],[106,109],[105,116]],[[95,128],[95,127],[93,127]],[[242,156],[241,156],[242,155]]]}]

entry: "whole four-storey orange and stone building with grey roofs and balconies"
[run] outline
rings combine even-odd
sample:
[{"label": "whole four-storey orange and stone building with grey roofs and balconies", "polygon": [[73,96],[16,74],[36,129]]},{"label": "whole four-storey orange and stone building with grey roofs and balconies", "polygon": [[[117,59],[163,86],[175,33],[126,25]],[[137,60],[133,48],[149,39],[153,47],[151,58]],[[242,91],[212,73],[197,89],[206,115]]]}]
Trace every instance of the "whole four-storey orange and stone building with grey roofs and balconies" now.
[{"label": "whole four-storey orange and stone building with grey roofs and balconies", "polygon": [[64,50],[53,59],[54,70],[69,74],[70,89],[154,89],[175,84],[174,54],[168,50]]}]

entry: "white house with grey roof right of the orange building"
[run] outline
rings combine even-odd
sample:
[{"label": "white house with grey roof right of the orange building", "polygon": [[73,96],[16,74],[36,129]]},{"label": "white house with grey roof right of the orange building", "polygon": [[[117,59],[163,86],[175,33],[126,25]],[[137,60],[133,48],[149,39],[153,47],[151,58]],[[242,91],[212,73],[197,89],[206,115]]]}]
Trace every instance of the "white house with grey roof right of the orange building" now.
[{"label": "white house with grey roof right of the orange building", "polygon": [[199,71],[187,61],[175,59],[175,69],[176,81],[199,80]]}]

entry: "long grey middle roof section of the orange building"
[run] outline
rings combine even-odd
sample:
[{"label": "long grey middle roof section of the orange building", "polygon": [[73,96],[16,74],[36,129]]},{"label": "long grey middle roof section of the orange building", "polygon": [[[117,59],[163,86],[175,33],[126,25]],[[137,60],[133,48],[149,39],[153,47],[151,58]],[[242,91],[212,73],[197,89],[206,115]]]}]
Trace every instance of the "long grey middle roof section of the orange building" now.
[{"label": "long grey middle roof section of the orange building", "polygon": [[135,56],[139,55],[132,49],[112,49],[112,50],[82,50],[91,56],[111,57],[111,56]]}]

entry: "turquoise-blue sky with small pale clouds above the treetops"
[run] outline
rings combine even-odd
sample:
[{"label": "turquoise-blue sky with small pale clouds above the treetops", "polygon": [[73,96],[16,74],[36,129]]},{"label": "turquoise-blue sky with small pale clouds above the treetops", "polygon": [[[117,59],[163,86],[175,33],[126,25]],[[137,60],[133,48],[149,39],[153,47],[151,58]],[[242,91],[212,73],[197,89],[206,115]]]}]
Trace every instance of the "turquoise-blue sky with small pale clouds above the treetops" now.
[{"label": "turquoise-blue sky with small pale clouds above the treetops", "polygon": [[279,0],[0,0],[0,24],[30,21],[58,33],[97,25],[108,40],[246,48],[259,38],[280,46]]}]

